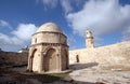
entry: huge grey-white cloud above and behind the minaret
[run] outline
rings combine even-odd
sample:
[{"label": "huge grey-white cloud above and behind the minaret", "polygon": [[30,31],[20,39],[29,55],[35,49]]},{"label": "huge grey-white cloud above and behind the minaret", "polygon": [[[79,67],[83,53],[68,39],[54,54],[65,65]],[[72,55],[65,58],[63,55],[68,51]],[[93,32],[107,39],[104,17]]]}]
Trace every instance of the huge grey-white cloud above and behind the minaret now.
[{"label": "huge grey-white cloud above and behind the minaret", "polygon": [[130,5],[120,5],[118,0],[89,0],[83,9],[66,16],[74,33],[83,36],[90,29],[95,39],[101,34],[126,31],[130,27]]}]

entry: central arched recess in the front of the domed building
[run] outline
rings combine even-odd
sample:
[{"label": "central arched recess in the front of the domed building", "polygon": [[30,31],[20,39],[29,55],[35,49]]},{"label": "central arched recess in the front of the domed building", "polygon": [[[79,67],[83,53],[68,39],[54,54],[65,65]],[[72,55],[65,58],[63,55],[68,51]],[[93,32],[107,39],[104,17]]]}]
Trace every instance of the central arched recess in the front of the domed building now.
[{"label": "central arched recess in the front of the domed building", "polygon": [[44,71],[55,71],[57,69],[57,55],[54,48],[47,51],[43,62]]}]

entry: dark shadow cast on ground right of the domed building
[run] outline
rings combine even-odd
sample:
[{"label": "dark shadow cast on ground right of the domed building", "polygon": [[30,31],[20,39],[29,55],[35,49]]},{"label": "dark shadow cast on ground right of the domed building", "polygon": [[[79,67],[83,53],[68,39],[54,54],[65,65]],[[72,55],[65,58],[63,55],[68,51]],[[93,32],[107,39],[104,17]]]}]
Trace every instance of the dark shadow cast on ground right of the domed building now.
[{"label": "dark shadow cast on ground right of the domed building", "polygon": [[75,65],[70,65],[69,69],[73,70],[80,70],[80,69],[86,69],[86,68],[91,68],[94,66],[98,66],[98,62],[89,62],[89,64],[75,64]]}]

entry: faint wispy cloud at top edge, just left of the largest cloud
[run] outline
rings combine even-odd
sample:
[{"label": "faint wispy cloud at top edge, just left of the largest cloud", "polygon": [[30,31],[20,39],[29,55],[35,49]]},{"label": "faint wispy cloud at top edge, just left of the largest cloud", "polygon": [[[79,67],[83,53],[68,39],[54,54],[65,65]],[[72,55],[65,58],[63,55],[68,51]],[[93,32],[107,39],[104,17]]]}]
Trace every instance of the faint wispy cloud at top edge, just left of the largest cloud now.
[{"label": "faint wispy cloud at top edge, just left of the largest cloud", "polygon": [[69,0],[61,0],[61,5],[64,9],[65,13],[69,13],[73,11],[73,6],[70,5]]}]

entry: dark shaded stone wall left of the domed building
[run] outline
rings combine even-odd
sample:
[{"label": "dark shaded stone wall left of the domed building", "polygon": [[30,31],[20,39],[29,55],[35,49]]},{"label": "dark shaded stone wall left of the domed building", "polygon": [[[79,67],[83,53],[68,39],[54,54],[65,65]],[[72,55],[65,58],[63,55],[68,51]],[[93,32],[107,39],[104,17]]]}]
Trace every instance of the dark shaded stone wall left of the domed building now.
[{"label": "dark shaded stone wall left of the domed building", "polygon": [[27,65],[28,53],[0,52],[1,66]]}]

